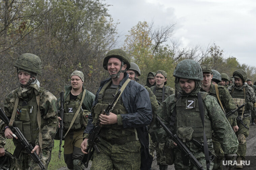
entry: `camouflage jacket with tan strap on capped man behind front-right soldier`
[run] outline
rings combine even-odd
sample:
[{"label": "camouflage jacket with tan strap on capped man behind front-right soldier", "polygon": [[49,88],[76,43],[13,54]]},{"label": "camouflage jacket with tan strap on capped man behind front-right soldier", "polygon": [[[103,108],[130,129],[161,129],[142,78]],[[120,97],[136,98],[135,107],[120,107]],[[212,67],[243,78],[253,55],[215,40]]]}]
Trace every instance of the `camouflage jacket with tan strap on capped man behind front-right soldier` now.
[{"label": "camouflage jacket with tan strap on capped man behind front-right soldier", "polygon": [[[225,110],[225,112],[229,112],[231,110],[235,110],[236,106],[235,103],[231,97],[231,95],[229,94],[228,90],[224,87],[224,86],[220,86],[218,85],[218,90],[219,90],[219,97],[220,97],[220,101],[222,103],[222,106]],[[205,92],[203,89],[201,89],[201,92]],[[220,102],[217,98],[217,94],[216,94],[216,90],[215,90],[215,86],[214,84],[211,82],[211,87],[210,87],[210,92],[207,92],[209,95],[215,97],[220,105]],[[237,112],[234,113],[232,116],[230,116],[228,118],[228,121],[230,123],[231,126],[236,126],[236,117],[237,117]]]}]

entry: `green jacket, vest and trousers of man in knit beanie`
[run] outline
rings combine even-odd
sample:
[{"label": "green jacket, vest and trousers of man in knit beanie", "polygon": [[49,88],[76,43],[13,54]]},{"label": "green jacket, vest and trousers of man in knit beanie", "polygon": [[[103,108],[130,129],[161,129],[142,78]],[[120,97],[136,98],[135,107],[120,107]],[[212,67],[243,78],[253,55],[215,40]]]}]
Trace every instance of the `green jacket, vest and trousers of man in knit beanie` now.
[{"label": "green jacket, vest and trousers of man in knit beanie", "polygon": [[[70,100],[69,97],[70,97],[71,89],[72,89],[71,86],[65,87],[65,94],[64,94],[65,104],[64,104],[64,119],[63,119],[65,133],[68,130],[68,127],[70,126],[70,122],[73,118],[73,116],[70,116],[70,114],[73,114],[73,115],[75,114],[74,108],[79,107],[79,104],[83,95],[83,92],[82,92],[76,97],[75,101]],[[85,90],[84,85],[82,90],[83,91]],[[89,92],[88,90],[86,90],[85,98],[82,104],[82,109],[80,109],[79,111],[80,114],[77,115],[77,119],[82,120],[83,122],[75,121],[72,127],[70,128],[69,132],[65,136],[64,159],[68,169],[81,169],[80,160],[84,156],[84,154],[81,151],[81,143],[83,141],[83,132],[87,126],[88,116],[91,112],[94,99],[95,99],[95,95]],[[76,106],[71,105],[74,102],[75,103],[78,102]],[[60,107],[60,102],[59,102],[59,107]],[[72,112],[69,111],[70,108],[73,108]]]}]

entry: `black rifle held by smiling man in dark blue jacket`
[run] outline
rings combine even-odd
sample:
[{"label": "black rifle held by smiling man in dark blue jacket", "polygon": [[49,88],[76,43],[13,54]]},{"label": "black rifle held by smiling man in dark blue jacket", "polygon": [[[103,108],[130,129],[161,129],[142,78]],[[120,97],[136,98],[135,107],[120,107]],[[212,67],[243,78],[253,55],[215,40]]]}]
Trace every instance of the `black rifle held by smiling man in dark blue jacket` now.
[{"label": "black rifle held by smiling man in dark blue jacket", "polygon": [[[112,94],[112,96],[114,97],[113,102],[110,104],[108,104],[107,108],[104,110],[104,114],[105,115],[109,115],[109,112],[113,109],[115,102],[117,101],[119,95],[121,94],[121,90],[118,91],[118,93],[116,95]],[[87,140],[87,149],[85,152],[87,152],[88,154],[85,154],[81,160],[81,163],[87,168],[88,164],[89,164],[89,160],[91,160],[92,155],[94,153],[94,151],[96,151],[97,153],[100,152],[99,148],[97,147],[97,143],[99,141],[99,132],[101,129],[101,124],[100,124],[100,120],[98,119],[96,126],[94,127],[93,131],[91,134],[89,134],[88,140]]]}]

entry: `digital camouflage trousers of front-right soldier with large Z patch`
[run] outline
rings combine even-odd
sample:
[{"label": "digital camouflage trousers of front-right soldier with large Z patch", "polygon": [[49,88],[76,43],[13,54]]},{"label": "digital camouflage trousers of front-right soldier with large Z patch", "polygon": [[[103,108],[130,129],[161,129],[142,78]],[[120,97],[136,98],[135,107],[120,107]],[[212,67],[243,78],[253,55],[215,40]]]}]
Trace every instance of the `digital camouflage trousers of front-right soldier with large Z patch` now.
[{"label": "digital camouflage trousers of front-right soldier with large Z patch", "polygon": [[[209,150],[214,152],[213,144],[210,142],[210,139],[207,139],[207,142],[208,142]],[[204,153],[201,152],[200,149],[193,144],[189,145],[188,149],[191,151],[191,153],[194,155],[194,157],[202,164],[203,169],[206,169]],[[175,168],[175,170],[197,170],[197,168],[190,161],[189,161],[188,165],[184,165],[183,159],[185,158],[186,160],[188,160],[188,158],[186,158],[177,147],[174,148],[173,153],[174,153],[174,168]],[[211,162],[210,170],[213,169],[213,165],[214,165],[214,163]]]}]

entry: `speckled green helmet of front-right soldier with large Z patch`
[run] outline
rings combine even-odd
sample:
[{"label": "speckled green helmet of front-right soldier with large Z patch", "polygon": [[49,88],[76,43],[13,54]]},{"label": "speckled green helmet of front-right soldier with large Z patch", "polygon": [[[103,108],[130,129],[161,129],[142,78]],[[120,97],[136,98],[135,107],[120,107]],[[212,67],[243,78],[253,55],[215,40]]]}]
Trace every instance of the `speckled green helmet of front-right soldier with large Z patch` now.
[{"label": "speckled green helmet of front-right soldier with large Z patch", "polygon": [[194,60],[183,60],[175,67],[174,77],[203,80],[203,72],[200,64]]}]

